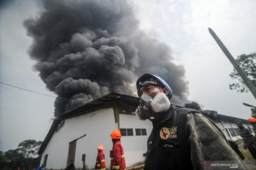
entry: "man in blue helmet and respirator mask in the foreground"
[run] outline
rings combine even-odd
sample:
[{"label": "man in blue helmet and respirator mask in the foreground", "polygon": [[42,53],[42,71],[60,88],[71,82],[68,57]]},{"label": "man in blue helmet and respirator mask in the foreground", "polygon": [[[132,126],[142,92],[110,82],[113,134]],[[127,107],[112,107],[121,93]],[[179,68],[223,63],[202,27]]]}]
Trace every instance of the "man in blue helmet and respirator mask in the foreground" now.
[{"label": "man in blue helmet and respirator mask in the foreground", "polygon": [[171,105],[173,92],[164,79],[144,74],[136,85],[136,113],[153,125],[144,169],[204,169],[210,165],[206,161],[234,161],[247,169],[223,132],[201,111]]}]

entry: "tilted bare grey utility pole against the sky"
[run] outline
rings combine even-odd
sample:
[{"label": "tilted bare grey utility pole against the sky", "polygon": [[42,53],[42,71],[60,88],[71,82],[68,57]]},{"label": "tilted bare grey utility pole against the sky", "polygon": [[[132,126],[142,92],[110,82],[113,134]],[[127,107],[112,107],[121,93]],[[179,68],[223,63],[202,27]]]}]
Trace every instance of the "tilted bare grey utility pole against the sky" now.
[{"label": "tilted bare grey utility pole against the sky", "polygon": [[230,54],[228,49],[225,47],[223,42],[221,42],[220,38],[214,33],[214,31],[210,28],[208,28],[210,35],[213,36],[214,40],[217,42],[217,44],[220,46],[221,50],[223,50],[224,54],[228,57],[228,60],[233,64],[234,68],[242,78],[242,80],[245,82],[245,85],[250,89],[252,92],[252,95],[256,99],[256,87],[252,84],[252,81],[246,76],[245,72],[242,71],[241,67],[238,65],[238,63],[235,61],[234,57]]}]

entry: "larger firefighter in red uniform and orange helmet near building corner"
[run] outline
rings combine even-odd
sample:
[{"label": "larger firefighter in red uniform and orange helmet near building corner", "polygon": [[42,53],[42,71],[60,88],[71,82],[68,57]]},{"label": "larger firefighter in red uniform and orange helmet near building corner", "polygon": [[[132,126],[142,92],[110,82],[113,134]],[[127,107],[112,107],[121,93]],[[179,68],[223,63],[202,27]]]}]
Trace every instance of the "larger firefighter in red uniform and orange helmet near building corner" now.
[{"label": "larger firefighter in red uniform and orange helmet near building corner", "polygon": [[113,142],[113,148],[112,151],[110,151],[110,157],[111,157],[111,167],[110,169],[115,170],[125,170],[125,159],[124,159],[124,149],[121,145],[120,138],[121,133],[119,130],[113,130],[110,134],[110,137]]}]

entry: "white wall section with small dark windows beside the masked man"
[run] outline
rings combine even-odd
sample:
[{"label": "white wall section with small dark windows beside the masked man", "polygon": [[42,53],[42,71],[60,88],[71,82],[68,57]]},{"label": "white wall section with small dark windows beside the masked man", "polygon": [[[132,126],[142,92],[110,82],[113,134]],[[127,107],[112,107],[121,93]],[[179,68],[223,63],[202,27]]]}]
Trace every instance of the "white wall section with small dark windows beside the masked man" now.
[{"label": "white wall section with small dark windows beside the masked man", "polygon": [[[137,115],[124,114],[119,114],[119,120],[120,128],[132,128],[134,132],[134,136],[121,137],[127,166],[144,161],[143,154],[146,152],[146,141],[153,128],[151,121],[139,120]],[[135,128],[146,128],[146,136],[136,136]]]}]

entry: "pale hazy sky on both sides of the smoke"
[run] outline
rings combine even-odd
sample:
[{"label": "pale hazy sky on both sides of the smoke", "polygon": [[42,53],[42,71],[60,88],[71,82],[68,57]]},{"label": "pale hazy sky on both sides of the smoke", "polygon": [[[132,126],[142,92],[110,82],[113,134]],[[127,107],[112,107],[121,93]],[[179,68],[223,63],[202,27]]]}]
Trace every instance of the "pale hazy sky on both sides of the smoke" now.
[{"label": "pale hazy sky on both sides of the smoke", "polygon": [[[232,64],[208,33],[212,28],[230,53],[237,57],[256,49],[256,2],[253,0],[140,0],[129,3],[139,28],[171,48],[176,64],[186,69],[188,99],[203,109],[247,119],[256,105],[252,94],[231,91],[236,82]],[[32,43],[23,21],[35,17],[41,1],[9,1],[0,4],[0,81],[34,94],[0,84],[0,151],[16,149],[23,140],[43,141],[54,118],[53,92],[33,69],[28,49]]]}]

